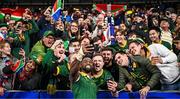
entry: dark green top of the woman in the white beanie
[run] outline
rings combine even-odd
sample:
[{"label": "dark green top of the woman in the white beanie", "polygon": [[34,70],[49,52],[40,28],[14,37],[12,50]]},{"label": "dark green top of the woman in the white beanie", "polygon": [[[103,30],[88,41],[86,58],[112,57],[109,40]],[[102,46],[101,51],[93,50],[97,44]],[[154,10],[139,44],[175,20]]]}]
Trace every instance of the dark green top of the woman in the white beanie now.
[{"label": "dark green top of the woman in the white beanie", "polygon": [[[48,49],[47,54],[42,61],[42,73],[45,78],[50,77],[48,83],[58,83],[57,89],[68,90],[70,89],[70,81],[69,81],[69,64],[66,59],[62,62],[57,63],[58,58],[54,55],[54,51]],[[53,68],[58,68],[58,73],[53,75]],[[47,79],[44,81],[46,82]],[[43,84],[44,84],[43,82]]]}]

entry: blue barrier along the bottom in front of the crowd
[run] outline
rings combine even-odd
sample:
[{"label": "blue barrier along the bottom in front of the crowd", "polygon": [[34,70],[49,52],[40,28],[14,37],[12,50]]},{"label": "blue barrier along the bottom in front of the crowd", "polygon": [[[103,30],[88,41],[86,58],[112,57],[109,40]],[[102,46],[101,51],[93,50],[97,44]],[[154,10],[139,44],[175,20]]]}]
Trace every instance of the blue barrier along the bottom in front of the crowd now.
[{"label": "blue barrier along the bottom in front of the crowd", "polygon": [[[97,97],[99,99],[114,98],[109,91],[99,91]],[[18,99],[44,99],[44,98],[68,98],[73,99],[71,91],[57,91],[54,95],[47,94],[46,91],[7,91],[0,98],[18,98]],[[118,98],[126,99],[139,99],[139,92],[119,92]],[[180,99],[180,91],[151,91],[148,93],[147,99]]]}]

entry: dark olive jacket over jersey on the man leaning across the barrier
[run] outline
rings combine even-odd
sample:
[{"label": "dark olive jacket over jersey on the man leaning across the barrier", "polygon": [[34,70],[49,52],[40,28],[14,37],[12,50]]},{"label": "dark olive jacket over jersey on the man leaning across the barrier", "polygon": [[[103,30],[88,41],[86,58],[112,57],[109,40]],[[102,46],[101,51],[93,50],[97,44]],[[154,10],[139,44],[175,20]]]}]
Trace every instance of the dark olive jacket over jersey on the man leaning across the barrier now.
[{"label": "dark olive jacket over jersey on the man leaning across the barrier", "polygon": [[133,90],[139,90],[143,86],[154,89],[161,75],[157,66],[139,55],[130,57],[129,61],[128,67],[119,66],[119,89],[123,89],[127,83],[133,85]]}]

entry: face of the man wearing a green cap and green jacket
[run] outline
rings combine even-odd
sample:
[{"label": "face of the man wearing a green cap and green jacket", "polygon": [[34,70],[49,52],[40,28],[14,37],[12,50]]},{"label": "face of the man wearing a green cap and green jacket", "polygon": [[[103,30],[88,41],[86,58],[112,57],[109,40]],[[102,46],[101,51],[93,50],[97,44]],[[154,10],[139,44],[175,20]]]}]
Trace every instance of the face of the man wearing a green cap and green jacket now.
[{"label": "face of the man wearing a green cap and green jacket", "polygon": [[47,37],[43,37],[43,43],[46,47],[50,48],[54,43],[54,37],[51,35],[48,35]]}]

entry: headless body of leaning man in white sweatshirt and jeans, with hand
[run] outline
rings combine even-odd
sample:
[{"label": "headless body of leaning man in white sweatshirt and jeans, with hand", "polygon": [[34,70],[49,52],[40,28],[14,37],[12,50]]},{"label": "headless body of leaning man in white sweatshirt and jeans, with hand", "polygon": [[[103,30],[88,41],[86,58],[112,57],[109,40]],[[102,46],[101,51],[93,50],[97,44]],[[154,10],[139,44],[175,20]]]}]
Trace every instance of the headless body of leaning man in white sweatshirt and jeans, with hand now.
[{"label": "headless body of leaning man in white sweatshirt and jeans, with hand", "polygon": [[176,54],[161,44],[151,44],[148,48],[151,62],[162,74],[161,90],[180,90],[180,68]]}]

